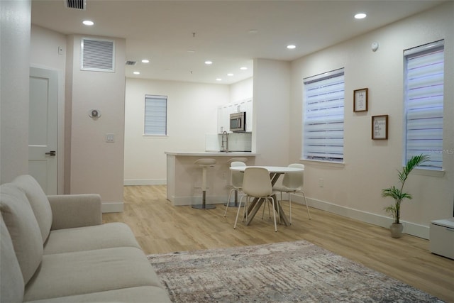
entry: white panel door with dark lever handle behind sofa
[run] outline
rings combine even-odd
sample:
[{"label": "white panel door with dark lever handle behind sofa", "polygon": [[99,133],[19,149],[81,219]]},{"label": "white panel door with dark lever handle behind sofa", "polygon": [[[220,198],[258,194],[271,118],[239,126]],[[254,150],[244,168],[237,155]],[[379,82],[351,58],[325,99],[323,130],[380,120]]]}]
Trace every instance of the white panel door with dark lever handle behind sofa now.
[{"label": "white panel door with dark lever handle behind sofa", "polygon": [[28,173],[46,194],[57,194],[58,74],[30,68]]}]

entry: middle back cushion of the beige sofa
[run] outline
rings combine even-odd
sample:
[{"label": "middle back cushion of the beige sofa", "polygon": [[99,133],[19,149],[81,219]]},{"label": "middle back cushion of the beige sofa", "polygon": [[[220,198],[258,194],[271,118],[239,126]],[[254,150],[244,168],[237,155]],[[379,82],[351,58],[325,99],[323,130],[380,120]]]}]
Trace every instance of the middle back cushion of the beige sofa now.
[{"label": "middle back cushion of the beige sofa", "polygon": [[38,221],[26,194],[11,183],[1,185],[0,210],[21,267],[23,282],[27,284],[43,258],[43,238]]}]

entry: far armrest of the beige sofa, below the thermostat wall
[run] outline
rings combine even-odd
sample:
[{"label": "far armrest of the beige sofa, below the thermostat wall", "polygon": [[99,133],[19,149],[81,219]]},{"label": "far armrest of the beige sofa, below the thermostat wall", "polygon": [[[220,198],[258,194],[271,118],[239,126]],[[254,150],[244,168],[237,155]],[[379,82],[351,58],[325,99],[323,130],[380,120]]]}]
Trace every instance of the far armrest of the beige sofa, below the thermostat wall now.
[{"label": "far armrest of the beige sofa, below the thermostat wall", "polygon": [[48,196],[52,209],[52,230],[102,224],[99,194]]}]

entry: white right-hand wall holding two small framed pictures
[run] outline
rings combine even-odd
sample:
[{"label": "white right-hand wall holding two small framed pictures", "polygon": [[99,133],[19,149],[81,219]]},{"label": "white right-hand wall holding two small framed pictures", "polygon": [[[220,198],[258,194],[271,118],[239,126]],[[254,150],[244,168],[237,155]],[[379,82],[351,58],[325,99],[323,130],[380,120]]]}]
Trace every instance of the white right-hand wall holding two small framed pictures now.
[{"label": "white right-hand wall holding two small framed pictures", "polygon": [[[445,109],[443,168],[445,174],[411,175],[406,190],[414,199],[402,204],[407,233],[428,238],[433,219],[453,215],[454,194],[454,3],[380,28],[292,62],[290,162],[301,158],[303,79],[345,67],[345,165],[304,161],[304,189],[312,204],[382,226],[392,200],[381,190],[397,184],[403,153],[403,50],[445,39]],[[380,43],[372,52],[372,42]],[[369,110],[353,112],[353,90],[369,88]],[[389,115],[389,139],[371,140],[371,116]],[[450,151],[450,153],[449,153]],[[324,186],[319,187],[319,179]]]}]

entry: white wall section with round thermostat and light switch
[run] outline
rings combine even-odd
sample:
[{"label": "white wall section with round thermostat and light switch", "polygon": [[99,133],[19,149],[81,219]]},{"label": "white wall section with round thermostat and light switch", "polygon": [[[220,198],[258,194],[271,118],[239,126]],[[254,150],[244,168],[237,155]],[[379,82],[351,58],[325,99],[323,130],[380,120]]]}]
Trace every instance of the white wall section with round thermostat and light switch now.
[{"label": "white wall section with round thermostat and light switch", "polygon": [[[70,193],[98,193],[104,211],[121,210],[126,41],[114,39],[115,72],[90,72],[80,70],[82,36],[68,40],[72,48],[67,70],[72,81],[66,95],[71,106]],[[90,118],[89,109],[100,109],[101,117]],[[114,143],[106,142],[106,133],[114,134]]]}]

